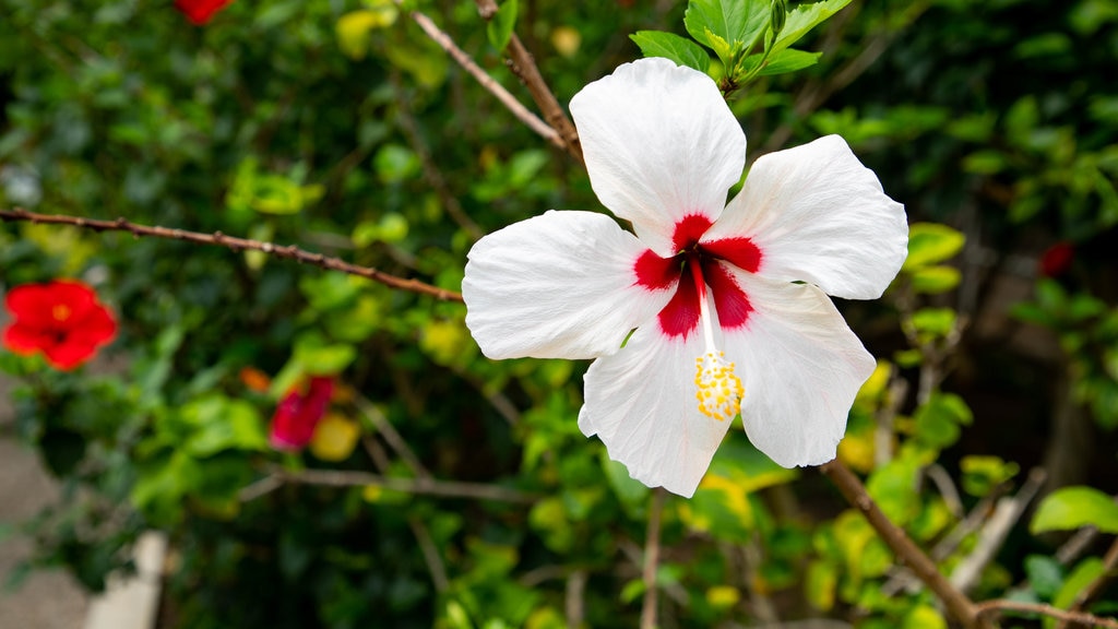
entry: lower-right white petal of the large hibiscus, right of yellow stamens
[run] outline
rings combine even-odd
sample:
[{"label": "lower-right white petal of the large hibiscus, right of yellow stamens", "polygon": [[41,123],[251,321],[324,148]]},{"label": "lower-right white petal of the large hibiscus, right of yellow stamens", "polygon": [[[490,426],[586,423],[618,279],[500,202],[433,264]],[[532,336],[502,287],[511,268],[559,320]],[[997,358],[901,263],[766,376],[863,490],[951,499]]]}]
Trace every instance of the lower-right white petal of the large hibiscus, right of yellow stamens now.
[{"label": "lower-right white petal of the large hibiscus, right of yellow stamens", "polygon": [[755,309],[745,327],[724,331],[745,387],[746,434],[787,468],[834,459],[873,356],[818,288],[736,276]]}]

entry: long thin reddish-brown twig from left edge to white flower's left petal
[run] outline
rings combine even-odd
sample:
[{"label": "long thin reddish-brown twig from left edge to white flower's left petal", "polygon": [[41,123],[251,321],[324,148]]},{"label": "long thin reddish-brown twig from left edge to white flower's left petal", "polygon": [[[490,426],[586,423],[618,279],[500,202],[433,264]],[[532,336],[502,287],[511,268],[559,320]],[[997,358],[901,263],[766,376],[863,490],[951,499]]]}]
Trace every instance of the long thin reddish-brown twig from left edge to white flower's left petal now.
[{"label": "long thin reddish-brown twig from left edge to white flower's left petal", "polygon": [[426,294],[444,301],[462,301],[462,293],[440,289],[438,287],[420,282],[419,280],[398,278],[390,273],[372,269],[371,266],[360,266],[338,257],[322,255],[321,253],[311,253],[295,245],[277,245],[274,243],[253,241],[249,238],[238,238],[235,236],[227,236],[221,232],[203,234],[201,232],[188,232],[186,229],[138,225],[130,220],[125,220],[124,218],[117,218],[116,220],[96,220],[79,216],[36,214],[21,208],[0,209],[0,220],[6,223],[26,220],[29,223],[45,225],[73,225],[75,227],[92,229],[94,232],[127,232],[138,237],[152,236],[157,238],[170,238],[172,241],[183,241],[200,245],[224,246],[235,252],[259,251],[275,257],[294,260],[296,262],[311,264],[328,271],[340,271],[342,273],[349,273],[350,275],[367,278],[394,289]]}]

